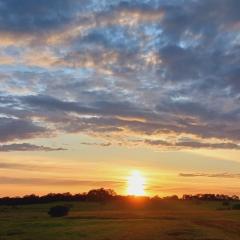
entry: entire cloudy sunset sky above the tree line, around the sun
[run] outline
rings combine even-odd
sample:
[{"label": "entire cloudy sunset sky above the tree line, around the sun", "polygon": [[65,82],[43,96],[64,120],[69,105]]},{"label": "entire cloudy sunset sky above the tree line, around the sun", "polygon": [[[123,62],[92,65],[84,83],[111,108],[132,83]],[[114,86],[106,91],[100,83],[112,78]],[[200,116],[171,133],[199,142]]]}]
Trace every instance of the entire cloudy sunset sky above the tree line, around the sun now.
[{"label": "entire cloudy sunset sky above the tree line, around the sun", "polygon": [[0,196],[240,195],[239,0],[0,0]]}]

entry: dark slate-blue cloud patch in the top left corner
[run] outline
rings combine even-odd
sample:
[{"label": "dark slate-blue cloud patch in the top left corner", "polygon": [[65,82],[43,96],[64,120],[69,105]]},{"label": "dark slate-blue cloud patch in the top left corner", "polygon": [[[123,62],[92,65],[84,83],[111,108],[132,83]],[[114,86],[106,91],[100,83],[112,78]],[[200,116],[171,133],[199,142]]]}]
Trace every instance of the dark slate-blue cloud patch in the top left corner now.
[{"label": "dark slate-blue cloud patch in the top left corner", "polygon": [[74,20],[76,5],[72,0],[1,0],[0,31],[33,33],[64,27]]}]

